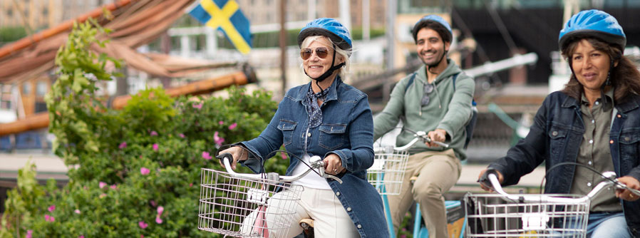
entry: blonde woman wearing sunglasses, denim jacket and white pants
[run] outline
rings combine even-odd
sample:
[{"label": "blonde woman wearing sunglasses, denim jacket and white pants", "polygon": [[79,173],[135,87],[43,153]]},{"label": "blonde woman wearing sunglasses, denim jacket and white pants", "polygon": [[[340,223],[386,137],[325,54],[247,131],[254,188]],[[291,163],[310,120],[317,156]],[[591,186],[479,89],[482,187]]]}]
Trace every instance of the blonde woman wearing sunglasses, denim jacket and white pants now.
[{"label": "blonde woman wearing sunglasses, denim jacket and white pants", "polygon": [[[373,165],[373,116],[367,95],[347,85],[342,77],[349,69],[351,37],[334,19],[309,22],[298,35],[302,68],[311,78],[291,88],[278,106],[267,128],[258,138],[238,143],[229,152],[254,172],[259,163],[281,145],[309,162],[319,155],[326,172],[337,175],[342,184],[311,172],[294,184],[304,186],[294,221],[315,219],[316,237],[388,237],[383,205],[378,192],[366,180]],[[222,153],[221,152],[221,153]],[[249,154],[259,160],[248,160]],[[291,158],[287,175],[307,167]],[[292,226],[288,234],[302,232]]]}]

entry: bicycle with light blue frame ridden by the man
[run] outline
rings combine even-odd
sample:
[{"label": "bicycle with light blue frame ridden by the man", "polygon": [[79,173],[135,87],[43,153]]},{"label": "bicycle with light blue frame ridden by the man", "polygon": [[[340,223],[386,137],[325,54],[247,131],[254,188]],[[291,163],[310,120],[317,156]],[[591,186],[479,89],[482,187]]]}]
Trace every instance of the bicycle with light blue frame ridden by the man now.
[{"label": "bicycle with light blue frame ridden by the man", "polygon": [[[403,130],[408,130],[403,128]],[[429,143],[431,139],[427,136],[427,133],[423,131],[413,132],[414,138],[406,145],[401,147],[378,147],[374,148],[375,157],[373,165],[367,170],[367,179],[373,187],[376,187],[378,193],[382,196],[383,205],[385,207],[385,214],[387,217],[387,227],[390,237],[395,237],[396,232],[393,229],[393,222],[391,221],[391,211],[389,210],[387,195],[399,195],[402,187],[403,178],[405,176],[406,165],[409,157],[408,149],[418,143]],[[443,148],[448,148],[449,145],[445,143],[435,142]],[[416,180],[416,177],[411,178],[411,183]],[[460,201],[445,201],[445,208],[452,209],[460,207]],[[416,212],[414,213],[413,222],[413,237],[428,237],[428,229],[423,225],[422,214],[420,212],[420,204],[416,203]],[[463,228],[465,224],[463,223]],[[460,230],[460,237],[463,232]]]}]

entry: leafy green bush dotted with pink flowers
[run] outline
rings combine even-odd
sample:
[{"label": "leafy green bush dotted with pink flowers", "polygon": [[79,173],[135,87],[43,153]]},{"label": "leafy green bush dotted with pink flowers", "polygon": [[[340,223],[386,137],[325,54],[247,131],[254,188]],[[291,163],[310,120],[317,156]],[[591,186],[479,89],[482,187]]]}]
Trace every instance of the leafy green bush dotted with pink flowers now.
[{"label": "leafy green bush dotted with pink flowers", "polygon": [[[177,99],[152,88],[123,110],[106,108],[96,83],[114,77],[105,64],[120,63],[88,50],[107,33],[91,22],[74,26],[58,51],[59,78],[46,96],[69,182],[41,186],[33,165],[21,170],[0,237],[212,237],[197,229],[200,168],[220,170],[217,148],[257,137],[277,103],[237,87],[229,98]],[[283,173],[287,162],[266,167]]]}]

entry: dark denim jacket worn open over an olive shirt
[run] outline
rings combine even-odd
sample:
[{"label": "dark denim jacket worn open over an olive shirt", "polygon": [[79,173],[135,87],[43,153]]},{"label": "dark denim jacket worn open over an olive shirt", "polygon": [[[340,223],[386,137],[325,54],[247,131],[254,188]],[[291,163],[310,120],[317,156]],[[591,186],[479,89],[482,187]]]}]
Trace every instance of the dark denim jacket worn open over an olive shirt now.
[{"label": "dark denim jacket worn open over an olive shirt", "polygon": [[[615,105],[614,120],[609,133],[609,148],[616,175],[640,180],[640,96],[631,95]],[[559,162],[576,162],[584,121],[579,101],[562,92],[547,96],[534,118],[526,138],[507,152],[506,157],[493,162],[505,177],[504,185],[515,185],[522,175],[532,172],[546,161],[547,170]],[[546,193],[567,194],[571,190],[575,166],[557,167],[547,174]],[[626,224],[634,237],[640,236],[640,202],[621,200]]]}]

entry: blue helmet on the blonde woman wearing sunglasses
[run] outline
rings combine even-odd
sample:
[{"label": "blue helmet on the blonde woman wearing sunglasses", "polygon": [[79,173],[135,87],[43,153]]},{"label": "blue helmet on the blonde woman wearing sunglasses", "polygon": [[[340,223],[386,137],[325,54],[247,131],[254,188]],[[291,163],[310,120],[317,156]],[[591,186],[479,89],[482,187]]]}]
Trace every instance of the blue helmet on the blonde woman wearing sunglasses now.
[{"label": "blue helmet on the blonde woman wearing sunglasses", "polygon": [[327,36],[345,51],[351,51],[353,47],[349,30],[336,19],[319,18],[306,24],[298,33],[298,46],[302,46],[302,41],[307,36]]}]

